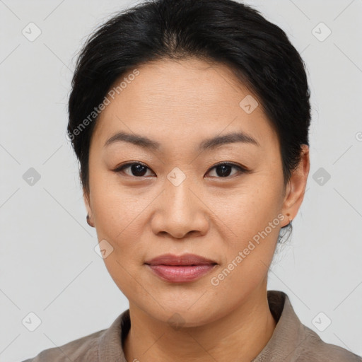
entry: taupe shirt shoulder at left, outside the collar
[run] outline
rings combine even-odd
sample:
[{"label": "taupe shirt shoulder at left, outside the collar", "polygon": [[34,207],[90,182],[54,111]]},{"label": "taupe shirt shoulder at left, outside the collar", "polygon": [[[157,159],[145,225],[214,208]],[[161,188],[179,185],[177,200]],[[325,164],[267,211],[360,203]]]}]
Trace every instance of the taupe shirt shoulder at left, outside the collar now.
[{"label": "taupe shirt shoulder at left, outside the collar", "polygon": [[45,349],[34,358],[23,362],[98,361],[98,344],[105,330],[103,329],[74,341],[69,341],[62,346]]}]

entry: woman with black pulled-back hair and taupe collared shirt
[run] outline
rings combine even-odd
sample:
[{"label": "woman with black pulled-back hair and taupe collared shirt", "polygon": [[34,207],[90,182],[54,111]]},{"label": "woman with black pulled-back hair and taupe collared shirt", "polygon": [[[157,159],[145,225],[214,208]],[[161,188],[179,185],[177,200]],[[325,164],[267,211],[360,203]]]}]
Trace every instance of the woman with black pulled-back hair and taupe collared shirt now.
[{"label": "woman with black pulled-back hair and taupe collared shirt", "polygon": [[362,361],[267,291],[305,192],[309,99],[300,55],[249,6],[156,0],[105,23],[68,135],[129,310],[28,361]]}]

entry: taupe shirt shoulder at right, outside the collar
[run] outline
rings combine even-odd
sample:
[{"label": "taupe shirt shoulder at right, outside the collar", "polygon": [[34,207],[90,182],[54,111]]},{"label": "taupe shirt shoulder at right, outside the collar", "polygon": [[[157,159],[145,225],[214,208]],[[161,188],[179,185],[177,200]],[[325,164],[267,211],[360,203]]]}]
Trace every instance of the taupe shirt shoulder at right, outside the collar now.
[{"label": "taupe shirt shoulder at right, outside the collar", "polygon": [[362,357],[334,344],[328,344],[303,325],[305,339],[300,344],[297,362],[362,362]]}]

